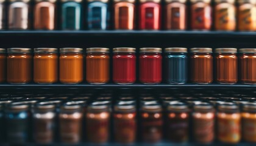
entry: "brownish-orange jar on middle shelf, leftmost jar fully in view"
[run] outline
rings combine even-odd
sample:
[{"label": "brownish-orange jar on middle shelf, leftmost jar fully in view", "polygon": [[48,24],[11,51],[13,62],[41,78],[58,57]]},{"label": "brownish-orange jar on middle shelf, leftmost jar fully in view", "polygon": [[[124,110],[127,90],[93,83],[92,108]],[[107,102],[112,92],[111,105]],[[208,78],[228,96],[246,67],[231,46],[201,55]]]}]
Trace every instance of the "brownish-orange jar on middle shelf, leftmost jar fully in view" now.
[{"label": "brownish-orange jar on middle shelf, leftmost jar fully in view", "polygon": [[29,48],[7,49],[7,82],[23,84],[32,81],[32,54]]}]

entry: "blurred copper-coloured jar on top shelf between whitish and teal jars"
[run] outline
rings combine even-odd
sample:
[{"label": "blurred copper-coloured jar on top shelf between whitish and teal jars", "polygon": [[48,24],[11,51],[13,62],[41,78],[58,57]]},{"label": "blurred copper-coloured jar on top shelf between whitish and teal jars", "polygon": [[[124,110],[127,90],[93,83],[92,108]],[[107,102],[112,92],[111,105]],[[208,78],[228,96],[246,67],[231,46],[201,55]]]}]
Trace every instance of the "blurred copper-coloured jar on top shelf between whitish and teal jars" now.
[{"label": "blurred copper-coloured jar on top shelf between whitish and teal jars", "polygon": [[34,29],[54,30],[55,29],[55,2],[56,0],[35,0],[34,7]]}]

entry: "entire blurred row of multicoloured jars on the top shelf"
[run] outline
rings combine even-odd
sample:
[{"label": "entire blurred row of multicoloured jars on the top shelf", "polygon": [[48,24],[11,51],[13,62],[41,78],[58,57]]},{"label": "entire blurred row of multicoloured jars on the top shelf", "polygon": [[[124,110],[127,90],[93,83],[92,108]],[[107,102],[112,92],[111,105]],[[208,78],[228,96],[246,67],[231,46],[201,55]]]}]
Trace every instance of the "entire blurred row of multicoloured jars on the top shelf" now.
[{"label": "entire blurred row of multicoloured jars on the top shelf", "polygon": [[[11,0],[8,13],[8,28],[15,30],[31,29],[30,0]],[[56,29],[56,0],[35,0],[34,29]],[[82,29],[82,0],[62,0],[61,19],[63,30]],[[212,29],[212,6],[210,0],[191,0],[190,29]],[[240,0],[238,6],[238,30],[256,30],[255,1]],[[162,5],[160,0],[140,0],[139,25],[142,30],[161,29]],[[165,0],[165,29],[187,29],[186,0]],[[113,29],[135,29],[135,0],[114,0]],[[108,29],[108,0],[88,0],[88,29]],[[5,4],[0,3],[0,29],[5,29]],[[236,29],[235,0],[215,0],[215,30]]]}]

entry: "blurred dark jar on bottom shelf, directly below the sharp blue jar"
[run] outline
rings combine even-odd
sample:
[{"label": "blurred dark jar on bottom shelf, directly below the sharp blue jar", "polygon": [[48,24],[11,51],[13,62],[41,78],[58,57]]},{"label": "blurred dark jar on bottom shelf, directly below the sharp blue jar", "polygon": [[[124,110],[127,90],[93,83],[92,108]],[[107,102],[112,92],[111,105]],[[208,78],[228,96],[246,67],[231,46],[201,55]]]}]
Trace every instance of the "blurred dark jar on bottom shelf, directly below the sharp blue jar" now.
[{"label": "blurred dark jar on bottom shelf, directly below the sharp blue jar", "polygon": [[[167,106],[165,116],[166,139],[172,142],[187,142],[190,121],[190,109],[183,102]],[[172,132],[170,132],[172,131]]]}]

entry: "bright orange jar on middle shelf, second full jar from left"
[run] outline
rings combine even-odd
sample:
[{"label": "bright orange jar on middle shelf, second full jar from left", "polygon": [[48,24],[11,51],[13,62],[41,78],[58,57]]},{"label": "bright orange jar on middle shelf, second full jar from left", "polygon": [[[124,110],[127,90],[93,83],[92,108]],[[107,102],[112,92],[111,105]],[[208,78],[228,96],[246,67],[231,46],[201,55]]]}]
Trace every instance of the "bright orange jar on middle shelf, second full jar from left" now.
[{"label": "bright orange jar on middle shelf, second full jar from left", "polygon": [[59,55],[56,48],[34,49],[34,82],[41,84],[58,82]]}]

